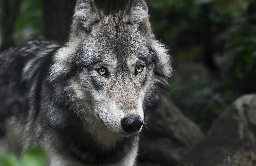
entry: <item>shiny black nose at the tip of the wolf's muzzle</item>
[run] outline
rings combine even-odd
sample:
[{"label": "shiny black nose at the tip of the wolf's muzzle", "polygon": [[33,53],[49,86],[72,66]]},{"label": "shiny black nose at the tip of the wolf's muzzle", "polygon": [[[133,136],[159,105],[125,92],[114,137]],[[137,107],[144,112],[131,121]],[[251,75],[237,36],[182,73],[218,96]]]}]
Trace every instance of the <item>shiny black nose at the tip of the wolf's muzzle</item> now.
[{"label": "shiny black nose at the tip of the wolf's muzzle", "polygon": [[122,128],[127,133],[133,133],[140,130],[143,120],[140,116],[127,116],[121,120]]}]

